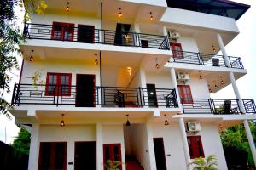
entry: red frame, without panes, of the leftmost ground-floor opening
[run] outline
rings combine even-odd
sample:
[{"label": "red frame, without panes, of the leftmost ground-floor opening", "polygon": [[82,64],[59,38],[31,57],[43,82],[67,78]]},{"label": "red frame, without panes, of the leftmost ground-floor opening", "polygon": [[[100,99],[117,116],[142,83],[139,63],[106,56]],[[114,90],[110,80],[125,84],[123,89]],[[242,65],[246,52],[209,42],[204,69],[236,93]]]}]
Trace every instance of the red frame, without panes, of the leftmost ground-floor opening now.
[{"label": "red frame, without panes, of the leftmost ground-floor opening", "polygon": [[[39,146],[39,156],[38,156],[38,170],[40,170],[40,165],[41,165],[41,161],[42,161],[42,157],[41,157],[41,151],[42,151],[42,144],[45,143],[49,143],[51,144],[51,150],[50,150],[50,165],[54,165],[55,164],[55,160],[54,160],[54,154],[55,154],[55,150],[52,149],[52,145],[53,144],[65,144],[65,155],[64,155],[64,169],[67,169],[67,142],[40,142],[40,146]],[[53,167],[50,167],[49,170],[55,170]]]}]

